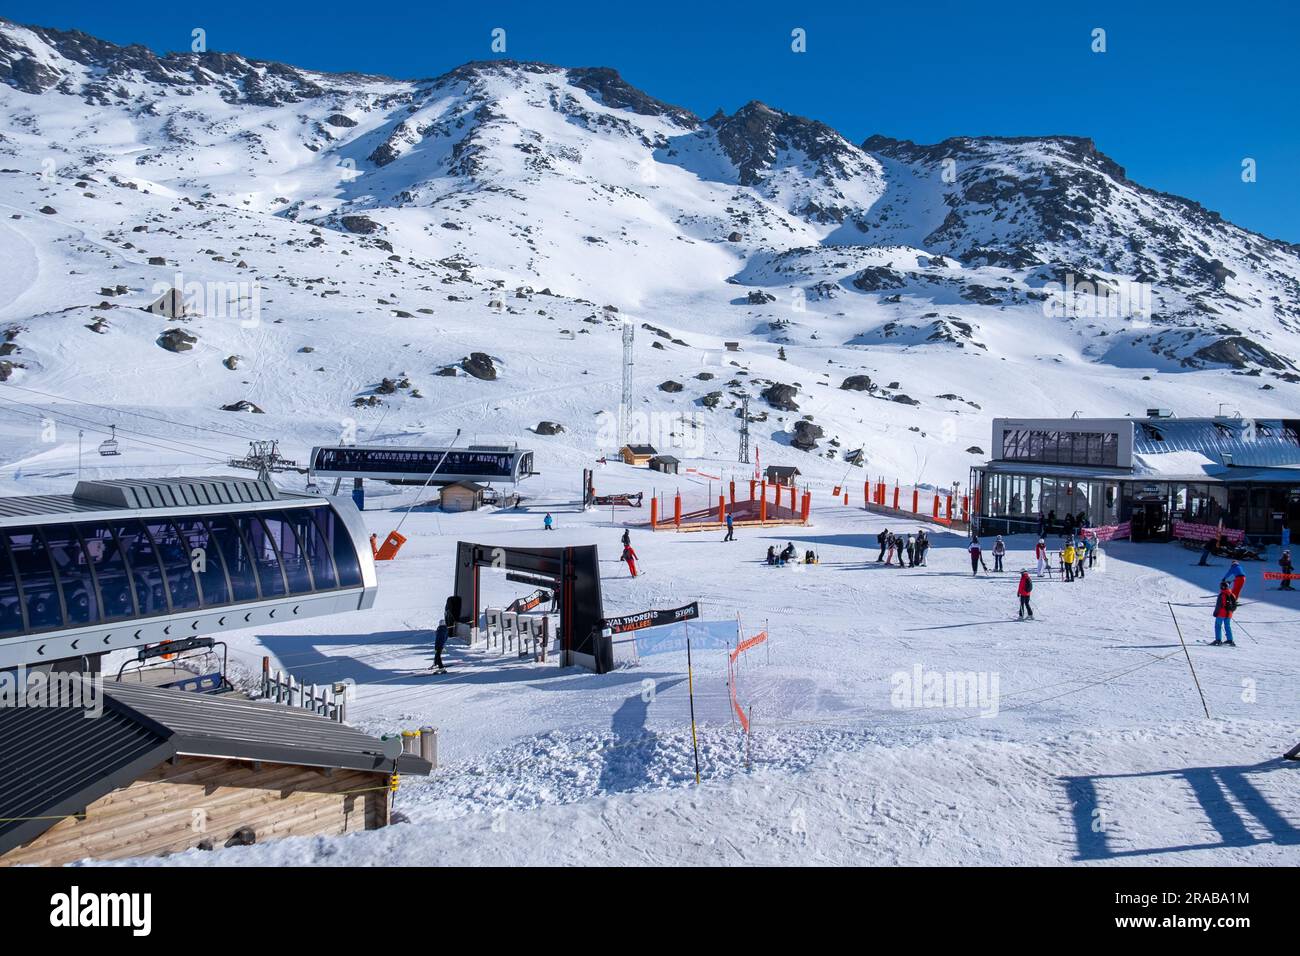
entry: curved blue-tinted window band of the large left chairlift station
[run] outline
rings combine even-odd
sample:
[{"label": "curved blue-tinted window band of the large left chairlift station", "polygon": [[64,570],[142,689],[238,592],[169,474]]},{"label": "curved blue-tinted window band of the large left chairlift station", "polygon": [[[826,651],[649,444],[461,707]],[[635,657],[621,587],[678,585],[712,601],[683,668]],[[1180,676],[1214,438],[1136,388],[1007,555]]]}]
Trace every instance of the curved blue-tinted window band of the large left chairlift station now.
[{"label": "curved blue-tinted window band of the large left chairlift station", "polygon": [[360,585],[329,507],[0,529],[0,637]]}]

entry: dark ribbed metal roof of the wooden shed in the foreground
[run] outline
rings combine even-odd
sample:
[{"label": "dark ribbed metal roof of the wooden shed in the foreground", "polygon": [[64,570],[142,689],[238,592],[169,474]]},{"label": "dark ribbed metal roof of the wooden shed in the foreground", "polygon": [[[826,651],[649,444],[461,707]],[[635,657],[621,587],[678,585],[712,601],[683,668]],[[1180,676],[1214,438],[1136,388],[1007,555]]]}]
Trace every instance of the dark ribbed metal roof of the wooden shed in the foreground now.
[{"label": "dark ribbed metal roof of the wooden shed in the foreground", "polygon": [[[377,737],[306,710],[135,684],[105,683],[103,691],[99,717],[79,708],[0,706],[0,853],[178,754],[394,769]],[[402,754],[396,770],[425,775],[433,767]]]}]

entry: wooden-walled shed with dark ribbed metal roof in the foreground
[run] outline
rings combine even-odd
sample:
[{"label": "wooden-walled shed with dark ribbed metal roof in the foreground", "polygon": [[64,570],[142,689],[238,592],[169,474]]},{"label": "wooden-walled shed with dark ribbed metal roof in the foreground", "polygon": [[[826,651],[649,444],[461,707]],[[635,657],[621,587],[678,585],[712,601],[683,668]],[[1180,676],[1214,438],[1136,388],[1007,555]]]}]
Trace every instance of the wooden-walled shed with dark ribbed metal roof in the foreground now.
[{"label": "wooden-walled shed with dark ribbed metal roof in the foreground", "polygon": [[376,830],[391,775],[433,769],[277,704],[116,683],[101,700],[96,719],[0,706],[0,866]]}]

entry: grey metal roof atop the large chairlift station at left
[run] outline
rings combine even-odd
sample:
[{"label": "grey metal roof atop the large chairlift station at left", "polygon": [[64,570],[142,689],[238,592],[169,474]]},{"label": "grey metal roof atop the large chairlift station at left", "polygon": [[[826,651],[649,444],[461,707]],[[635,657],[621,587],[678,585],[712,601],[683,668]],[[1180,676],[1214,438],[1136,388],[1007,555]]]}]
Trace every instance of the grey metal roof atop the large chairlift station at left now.
[{"label": "grey metal roof atop the large chairlift station at left", "polygon": [[[194,511],[199,509],[261,510],[266,507],[322,502],[311,494],[276,488],[270,481],[246,477],[161,477],[78,481],[72,494],[23,494],[0,498],[0,523],[22,519],[87,516],[121,511]],[[5,519],[20,519],[5,520]]]}]

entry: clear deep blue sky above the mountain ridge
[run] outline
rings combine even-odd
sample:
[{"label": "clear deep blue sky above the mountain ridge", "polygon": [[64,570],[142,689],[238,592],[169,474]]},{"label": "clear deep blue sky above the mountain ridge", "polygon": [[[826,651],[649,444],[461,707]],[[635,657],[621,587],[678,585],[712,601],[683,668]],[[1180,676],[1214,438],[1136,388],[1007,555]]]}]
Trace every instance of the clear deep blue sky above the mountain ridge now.
[{"label": "clear deep blue sky above the mountain ridge", "polygon": [[[841,7],[842,9],[837,9]],[[985,9],[987,8],[987,9]],[[30,3],[25,23],[75,27],[160,52],[208,48],[324,70],[415,78],[506,56],[614,66],[702,116],[748,100],[822,120],[853,142],[872,133],[1067,133],[1152,189],[1300,242],[1300,4],[766,3],[420,4]],[[790,49],[790,31],[807,52]],[[1106,31],[1093,53],[1092,31]],[[1243,159],[1257,181],[1242,181]]]}]

